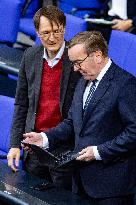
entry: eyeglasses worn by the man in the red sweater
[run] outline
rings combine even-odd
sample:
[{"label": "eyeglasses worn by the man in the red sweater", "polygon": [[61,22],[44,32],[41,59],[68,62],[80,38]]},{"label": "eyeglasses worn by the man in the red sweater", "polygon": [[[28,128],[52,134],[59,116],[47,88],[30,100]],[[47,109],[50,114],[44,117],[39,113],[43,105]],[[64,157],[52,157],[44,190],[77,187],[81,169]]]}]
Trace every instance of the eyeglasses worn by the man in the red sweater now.
[{"label": "eyeglasses worn by the man in the red sweater", "polygon": [[54,36],[54,37],[59,37],[60,34],[62,34],[64,32],[63,29],[57,29],[55,31],[43,31],[42,33],[38,33],[39,34],[39,37],[41,38],[49,38],[51,36],[51,34]]}]

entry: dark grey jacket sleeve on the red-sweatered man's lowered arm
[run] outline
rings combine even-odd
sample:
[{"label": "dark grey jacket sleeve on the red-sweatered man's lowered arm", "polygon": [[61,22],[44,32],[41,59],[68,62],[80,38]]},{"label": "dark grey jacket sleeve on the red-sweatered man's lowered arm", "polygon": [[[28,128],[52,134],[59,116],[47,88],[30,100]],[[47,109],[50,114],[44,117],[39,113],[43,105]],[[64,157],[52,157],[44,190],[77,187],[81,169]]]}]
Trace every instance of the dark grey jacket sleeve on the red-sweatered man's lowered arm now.
[{"label": "dark grey jacket sleeve on the red-sweatered man's lowered arm", "polygon": [[26,116],[28,111],[28,85],[25,72],[25,55],[22,58],[16,89],[13,123],[11,128],[10,147],[20,148],[23,133],[25,132]]}]

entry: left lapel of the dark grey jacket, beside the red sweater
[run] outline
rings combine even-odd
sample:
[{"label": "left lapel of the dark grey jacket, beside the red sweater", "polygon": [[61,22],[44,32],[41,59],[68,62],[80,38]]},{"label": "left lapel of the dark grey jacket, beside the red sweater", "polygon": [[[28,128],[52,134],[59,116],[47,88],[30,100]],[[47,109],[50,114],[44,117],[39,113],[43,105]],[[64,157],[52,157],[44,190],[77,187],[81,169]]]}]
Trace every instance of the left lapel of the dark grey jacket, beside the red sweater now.
[{"label": "left lapel of the dark grey jacket, beside the red sweater", "polygon": [[40,86],[41,86],[41,76],[42,76],[42,68],[43,68],[43,46],[40,47],[39,51],[35,54],[35,111],[37,109],[39,93],[40,93]]}]

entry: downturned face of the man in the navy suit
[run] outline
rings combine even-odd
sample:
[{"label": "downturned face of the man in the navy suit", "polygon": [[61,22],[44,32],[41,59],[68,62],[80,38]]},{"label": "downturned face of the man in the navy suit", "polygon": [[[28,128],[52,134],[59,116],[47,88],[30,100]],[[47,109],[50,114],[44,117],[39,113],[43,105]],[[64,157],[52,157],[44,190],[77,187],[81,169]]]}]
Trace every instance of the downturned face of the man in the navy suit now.
[{"label": "downturned face of the man in the navy suit", "polygon": [[77,44],[68,50],[70,61],[74,65],[74,71],[79,71],[85,80],[95,80],[101,71],[101,51],[87,55],[83,44]]}]

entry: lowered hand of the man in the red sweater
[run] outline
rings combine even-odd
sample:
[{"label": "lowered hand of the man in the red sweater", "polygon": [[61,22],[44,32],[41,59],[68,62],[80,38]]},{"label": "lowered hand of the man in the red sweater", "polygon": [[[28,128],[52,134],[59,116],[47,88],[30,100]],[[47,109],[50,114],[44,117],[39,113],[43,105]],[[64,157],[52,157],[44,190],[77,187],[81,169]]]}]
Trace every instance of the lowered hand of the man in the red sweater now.
[{"label": "lowered hand of the man in the red sweater", "polygon": [[[11,148],[7,155],[8,166],[11,167],[13,171],[18,171],[17,167],[19,167],[20,160],[20,149],[19,148]],[[15,164],[14,164],[15,160]]]}]

